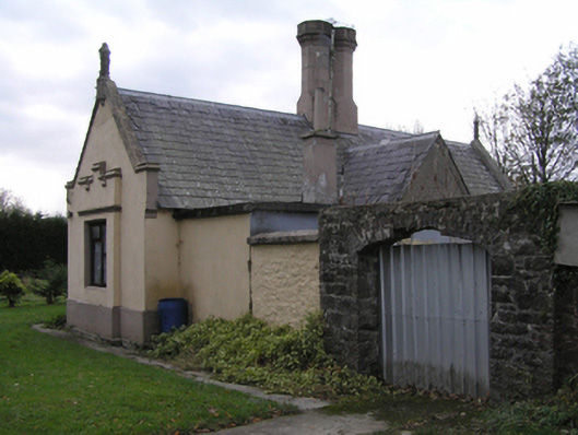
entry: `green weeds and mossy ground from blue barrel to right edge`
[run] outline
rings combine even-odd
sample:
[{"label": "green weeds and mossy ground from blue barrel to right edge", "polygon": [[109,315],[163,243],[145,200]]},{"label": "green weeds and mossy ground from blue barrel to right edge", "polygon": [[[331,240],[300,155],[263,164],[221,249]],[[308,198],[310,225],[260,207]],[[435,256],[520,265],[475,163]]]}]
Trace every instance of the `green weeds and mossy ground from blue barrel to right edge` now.
[{"label": "green weeds and mossy ground from blue barrel to right edge", "polygon": [[270,327],[247,315],[237,320],[210,318],[155,338],[150,355],[185,369],[204,369],[219,379],[256,385],[271,392],[335,401],[328,413],[368,413],[391,430],[426,434],[578,435],[574,378],[552,398],[489,409],[473,400],[437,391],[393,388],[339,366],[323,348],[318,313],[297,330]]}]

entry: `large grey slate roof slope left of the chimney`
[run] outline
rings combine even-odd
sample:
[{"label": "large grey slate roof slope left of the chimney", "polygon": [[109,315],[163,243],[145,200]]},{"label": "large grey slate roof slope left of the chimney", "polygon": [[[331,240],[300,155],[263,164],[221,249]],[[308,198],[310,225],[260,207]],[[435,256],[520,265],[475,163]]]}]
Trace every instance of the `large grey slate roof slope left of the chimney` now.
[{"label": "large grey slate roof slope left of the chimney", "polygon": [[297,115],[119,90],[145,158],[158,163],[158,202],[197,209],[299,202]]}]

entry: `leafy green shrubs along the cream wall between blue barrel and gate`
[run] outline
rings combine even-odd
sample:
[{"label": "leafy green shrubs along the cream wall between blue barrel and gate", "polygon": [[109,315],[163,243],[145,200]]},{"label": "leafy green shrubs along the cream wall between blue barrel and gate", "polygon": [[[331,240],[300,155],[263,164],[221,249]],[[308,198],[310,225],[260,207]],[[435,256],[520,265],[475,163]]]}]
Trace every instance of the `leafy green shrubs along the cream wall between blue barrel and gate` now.
[{"label": "leafy green shrubs along the cream wall between blue barrel and gate", "polygon": [[376,378],[340,367],[326,353],[321,314],[309,316],[300,329],[270,327],[250,315],[236,320],[210,318],[157,336],[153,342],[155,357],[269,391],[337,398],[378,388]]}]

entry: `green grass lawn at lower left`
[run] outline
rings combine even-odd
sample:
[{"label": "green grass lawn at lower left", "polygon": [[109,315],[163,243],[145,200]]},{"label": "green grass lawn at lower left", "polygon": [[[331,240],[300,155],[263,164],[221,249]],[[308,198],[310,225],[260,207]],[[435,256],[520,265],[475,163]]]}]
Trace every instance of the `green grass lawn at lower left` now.
[{"label": "green grass lawn at lower left", "polygon": [[0,306],[0,434],[184,434],[291,411],[31,328],[62,313]]}]

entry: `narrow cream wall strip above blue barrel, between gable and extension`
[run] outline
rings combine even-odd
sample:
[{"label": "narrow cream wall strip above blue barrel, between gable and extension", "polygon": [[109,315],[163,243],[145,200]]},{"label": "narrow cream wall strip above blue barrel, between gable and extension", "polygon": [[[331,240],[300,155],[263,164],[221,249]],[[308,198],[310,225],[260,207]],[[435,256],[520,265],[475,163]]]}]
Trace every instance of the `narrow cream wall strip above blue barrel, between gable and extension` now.
[{"label": "narrow cream wall strip above blue barrel, between gable and extension", "polygon": [[168,211],[144,221],[146,309],[163,297],[186,297],[179,282],[179,227]]}]

